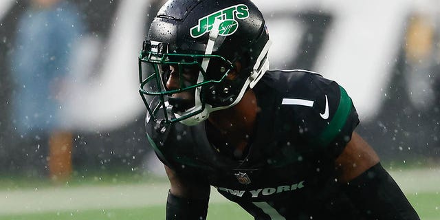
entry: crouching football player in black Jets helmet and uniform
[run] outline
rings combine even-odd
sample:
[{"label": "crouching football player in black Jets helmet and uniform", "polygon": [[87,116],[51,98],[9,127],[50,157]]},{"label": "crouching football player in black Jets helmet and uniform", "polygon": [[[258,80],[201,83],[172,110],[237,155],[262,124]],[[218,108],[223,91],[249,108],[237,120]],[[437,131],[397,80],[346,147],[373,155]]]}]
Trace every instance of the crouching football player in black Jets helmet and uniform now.
[{"label": "crouching football player in black Jets helmet and uniform", "polygon": [[338,83],[269,70],[249,0],[170,0],[139,57],[146,131],[170,181],[166,219],[206,219],[210,186],[255,219],[419,219]]}]

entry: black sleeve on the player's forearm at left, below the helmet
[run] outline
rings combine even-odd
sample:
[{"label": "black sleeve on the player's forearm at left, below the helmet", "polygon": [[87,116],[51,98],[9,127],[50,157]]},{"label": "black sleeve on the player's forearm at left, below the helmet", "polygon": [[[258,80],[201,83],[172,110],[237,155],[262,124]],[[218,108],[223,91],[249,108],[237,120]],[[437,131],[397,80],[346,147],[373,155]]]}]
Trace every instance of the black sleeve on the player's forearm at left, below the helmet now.
[{"label": "black sleeve on the player's forearm at left, below the helmet", "polygon": [[168,192],[166,220],[205,220],[208,199],[186,199]]}]

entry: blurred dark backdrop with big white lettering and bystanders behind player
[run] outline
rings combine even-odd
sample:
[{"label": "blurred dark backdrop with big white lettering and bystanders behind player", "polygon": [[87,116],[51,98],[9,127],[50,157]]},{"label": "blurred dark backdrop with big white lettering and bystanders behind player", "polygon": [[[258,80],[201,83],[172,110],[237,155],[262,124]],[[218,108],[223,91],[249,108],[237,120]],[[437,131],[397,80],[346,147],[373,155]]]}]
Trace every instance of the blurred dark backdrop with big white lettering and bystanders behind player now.
[{"label": "blurred dark backdrop with big white lettering and bystanders behind player", "polygon": [[[1,177],[162,172],[144,132],[137,55],[163,2],[0,1]],[[337,80],[383,160],[439,162],[439,1],[254,2],[272,69]]]}]

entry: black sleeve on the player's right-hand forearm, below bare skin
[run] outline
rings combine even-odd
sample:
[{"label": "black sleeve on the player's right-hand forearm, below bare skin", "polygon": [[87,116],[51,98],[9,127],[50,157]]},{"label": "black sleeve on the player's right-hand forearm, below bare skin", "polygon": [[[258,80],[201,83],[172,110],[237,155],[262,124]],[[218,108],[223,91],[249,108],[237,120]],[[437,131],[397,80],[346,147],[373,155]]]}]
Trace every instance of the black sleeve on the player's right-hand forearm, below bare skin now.
[{"label": "black sleeve on the player's right-hand forearm, below bare skin", "polygon": [[380,163],[349,181],[345,190],[355,206],[373,219],[419,219],[393,177]]}]

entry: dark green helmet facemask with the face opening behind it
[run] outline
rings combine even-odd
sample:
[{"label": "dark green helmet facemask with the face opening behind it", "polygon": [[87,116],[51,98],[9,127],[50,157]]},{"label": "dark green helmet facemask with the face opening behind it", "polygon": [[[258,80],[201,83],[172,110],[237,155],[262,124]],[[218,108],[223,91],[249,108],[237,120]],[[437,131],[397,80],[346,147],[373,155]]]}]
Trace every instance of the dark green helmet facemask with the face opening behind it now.
[{"label": "dark green helmet facemask with the face opening behind it", "polygon": [[140,53],[139,91],[148,114],[155,120],[163,118],[166,123],[173,123],[208,111],[208,94],[217,98],[216,89],[223,91],[221,83],[230,78],[232,63],[214,54],[162,51],[168,50],[161,43],[152,46],[151,41],[144,41]]}]

